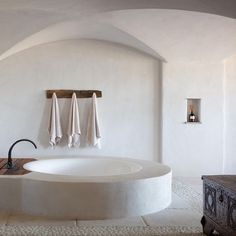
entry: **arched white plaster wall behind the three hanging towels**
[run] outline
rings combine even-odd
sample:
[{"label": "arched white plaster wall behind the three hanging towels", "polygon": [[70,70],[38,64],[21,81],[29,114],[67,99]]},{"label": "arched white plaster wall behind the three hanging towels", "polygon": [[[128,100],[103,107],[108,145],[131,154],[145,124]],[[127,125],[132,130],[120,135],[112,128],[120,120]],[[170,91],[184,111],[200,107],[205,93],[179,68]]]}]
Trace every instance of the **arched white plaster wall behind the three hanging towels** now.
[{"label": "arched white plaster wall behind the three hanging towels", "polygon": [[[84,147],[90,99],[79,99],[82,147],[68,149],[66,137],[55,150],[48,145],[50,100],[46,89],[98,89],[102,149]],[[14,156],[109,155],[160,158],[160,63],[121,45],[68,40],[25,50],[0,62],[0,155],[17,139]],[[64,133],[69,99],[59,100]]]}]

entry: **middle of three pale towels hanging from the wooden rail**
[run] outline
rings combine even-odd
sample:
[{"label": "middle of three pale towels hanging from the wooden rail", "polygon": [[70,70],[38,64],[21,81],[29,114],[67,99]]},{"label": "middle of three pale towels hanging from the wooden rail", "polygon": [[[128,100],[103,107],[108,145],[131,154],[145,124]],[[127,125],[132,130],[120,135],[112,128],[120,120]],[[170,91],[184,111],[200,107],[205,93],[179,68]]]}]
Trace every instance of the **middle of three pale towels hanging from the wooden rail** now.
[{"label": "middle of three pale towels hanging from the wooden rail", "polygon": [[68,147],[75,147],[80,144],[80,120],[79,120],[79,108],[77,103],[76,94],[73,93],[71,99],[69,124],[68,124]]}]

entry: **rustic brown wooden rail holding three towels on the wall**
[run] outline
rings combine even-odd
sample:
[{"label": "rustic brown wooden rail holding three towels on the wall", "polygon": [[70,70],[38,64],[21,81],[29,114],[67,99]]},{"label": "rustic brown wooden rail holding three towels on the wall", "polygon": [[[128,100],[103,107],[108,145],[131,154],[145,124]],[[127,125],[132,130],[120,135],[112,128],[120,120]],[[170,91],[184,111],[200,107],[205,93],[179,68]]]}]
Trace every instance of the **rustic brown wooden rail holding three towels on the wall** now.
[{"label": "rustic brown wooden rail holding three towels on the wall", "polygon": [[102,91],[99,90],[46,90],[46,97],[52,98],[53,93],[56,93],[57,98],[71,98],[75,93],[77,98],[91,98],[93,93],[96,93],[97,97],[102,97]]}]

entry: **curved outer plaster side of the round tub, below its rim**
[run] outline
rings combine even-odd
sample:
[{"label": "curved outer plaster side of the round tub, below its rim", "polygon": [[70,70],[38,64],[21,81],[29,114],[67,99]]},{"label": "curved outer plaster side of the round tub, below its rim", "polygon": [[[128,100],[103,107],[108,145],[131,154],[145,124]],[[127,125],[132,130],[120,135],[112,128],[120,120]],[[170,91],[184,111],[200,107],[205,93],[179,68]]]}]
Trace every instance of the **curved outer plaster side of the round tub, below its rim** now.
[{"label": "curved outer plaster side of the round tub, below its rim", "polygon": [[171,181],[45,183],[24,181],[22,211],[53,218],[98,220],[154,213],[171,203]]}]

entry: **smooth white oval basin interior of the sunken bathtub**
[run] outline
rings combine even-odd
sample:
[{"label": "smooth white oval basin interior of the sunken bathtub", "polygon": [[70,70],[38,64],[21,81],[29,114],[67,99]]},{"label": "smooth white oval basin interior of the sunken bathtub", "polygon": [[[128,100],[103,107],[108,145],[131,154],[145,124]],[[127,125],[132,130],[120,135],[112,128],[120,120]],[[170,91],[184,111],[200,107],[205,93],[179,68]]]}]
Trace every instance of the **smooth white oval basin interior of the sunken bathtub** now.
[{"label": "smooth white oval basin interior of the sunken bathtub", "polygon": [[140,171],[142,166],[126,160],[63,158],[33,161],[25,164],[24,168],[45,174],[91,177],[131,174]]}]

